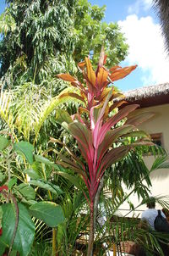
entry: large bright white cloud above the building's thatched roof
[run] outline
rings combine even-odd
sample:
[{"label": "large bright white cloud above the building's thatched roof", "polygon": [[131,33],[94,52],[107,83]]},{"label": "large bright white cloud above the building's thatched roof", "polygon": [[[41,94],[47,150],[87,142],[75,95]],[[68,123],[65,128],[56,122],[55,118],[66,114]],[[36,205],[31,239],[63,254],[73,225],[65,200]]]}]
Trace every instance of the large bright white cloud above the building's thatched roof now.
[{"label": "large bright white cloud above the building's thatched roof", "polygon": [[135,14],[118,21],[118,25],[122,27],[129,45],[126,60],[142,69],[143,84],[169,81],[169,57],[165,53],[160,25],[155,24],[150,16],[139,19]]}]

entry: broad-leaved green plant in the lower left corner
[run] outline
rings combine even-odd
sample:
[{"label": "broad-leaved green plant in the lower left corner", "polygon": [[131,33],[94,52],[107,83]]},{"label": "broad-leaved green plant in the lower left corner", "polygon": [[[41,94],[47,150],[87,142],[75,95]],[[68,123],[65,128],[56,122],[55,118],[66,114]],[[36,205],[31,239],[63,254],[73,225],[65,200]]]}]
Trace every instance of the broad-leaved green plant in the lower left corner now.
[{"label": "broad-leaved green plant in the lower left corner", "polygon": [[[35,222],[31,217],[34,217],[34,220],[42,220],[52,228],[64,221],[60,205],[38,196],[39,187],[57,197],[63,191],[59,186],[46,181],[46,174],[42,178],[41,174],[38,175],[32,169],[38,162],[38,156],[34,159],[33,150],[34,147],[29,142],[12,142],[0,136],[0,212],[3,231],[0,236],[0,255],[3,255],[7,248],[8,255],[14,251],[23,256],[30,253],[35,237]],[[22,165],[25,170],[20,168]],[[33,178],[31,182],[30,177]],[[33,186],[36,186],[36,189]]]}]

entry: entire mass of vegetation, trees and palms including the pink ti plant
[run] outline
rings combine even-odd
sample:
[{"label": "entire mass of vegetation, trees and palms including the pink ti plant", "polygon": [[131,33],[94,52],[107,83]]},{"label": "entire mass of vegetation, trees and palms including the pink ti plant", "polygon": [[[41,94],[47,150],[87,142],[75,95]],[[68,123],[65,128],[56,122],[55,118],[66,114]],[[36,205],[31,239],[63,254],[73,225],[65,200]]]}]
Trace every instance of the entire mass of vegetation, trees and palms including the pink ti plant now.
[{"label": "entire mass of vegetation, trees and palms including the pink ti plant", "polygon": [[104,255],[112,243],[140,237],[150,241],[147,251],[161,252],[156,234],[138,232],[135,220],[114,221],[131,193],[147,197],[150,172],[168,166],[163,155],[147,169],[142,146],[150,137],[137,129],[137,113],[128,116],[137,106],[118,110],[124,101],[114,101],[122,94],[112,82],[136,67],[117,66],[128,50],[118,25],[102,22],[105,7],[87,0],[7,3],[0,17],[0,255]]}]

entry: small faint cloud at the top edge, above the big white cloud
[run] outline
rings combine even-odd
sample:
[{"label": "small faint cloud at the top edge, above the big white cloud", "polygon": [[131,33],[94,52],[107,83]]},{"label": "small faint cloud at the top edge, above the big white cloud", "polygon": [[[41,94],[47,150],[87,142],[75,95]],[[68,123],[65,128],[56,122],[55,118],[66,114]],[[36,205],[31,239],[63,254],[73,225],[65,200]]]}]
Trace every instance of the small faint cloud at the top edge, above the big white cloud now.
[{"label": "small faint cloud at the top edge, above the big white cloud", "polygon": [[136,0],[134,4],[129,5],[128,14],[139,14],[142,9],[147,11],[152,3],[152,0]]}]

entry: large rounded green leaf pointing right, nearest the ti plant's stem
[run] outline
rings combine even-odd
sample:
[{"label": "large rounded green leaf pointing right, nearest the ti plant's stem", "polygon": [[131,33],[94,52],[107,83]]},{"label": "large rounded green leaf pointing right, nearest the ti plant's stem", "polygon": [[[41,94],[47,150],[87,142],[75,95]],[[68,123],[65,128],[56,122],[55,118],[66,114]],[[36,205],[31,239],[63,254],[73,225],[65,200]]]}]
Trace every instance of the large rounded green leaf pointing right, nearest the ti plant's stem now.
[{"label": "large rounded green leaf pointing right, nearest the ti plant's stem", "polygon": [[55,227],[64,221],[63,209],[57,203],[35,203],[30,206],[30,214],[37,219],[43,220],[50,227]]}]

